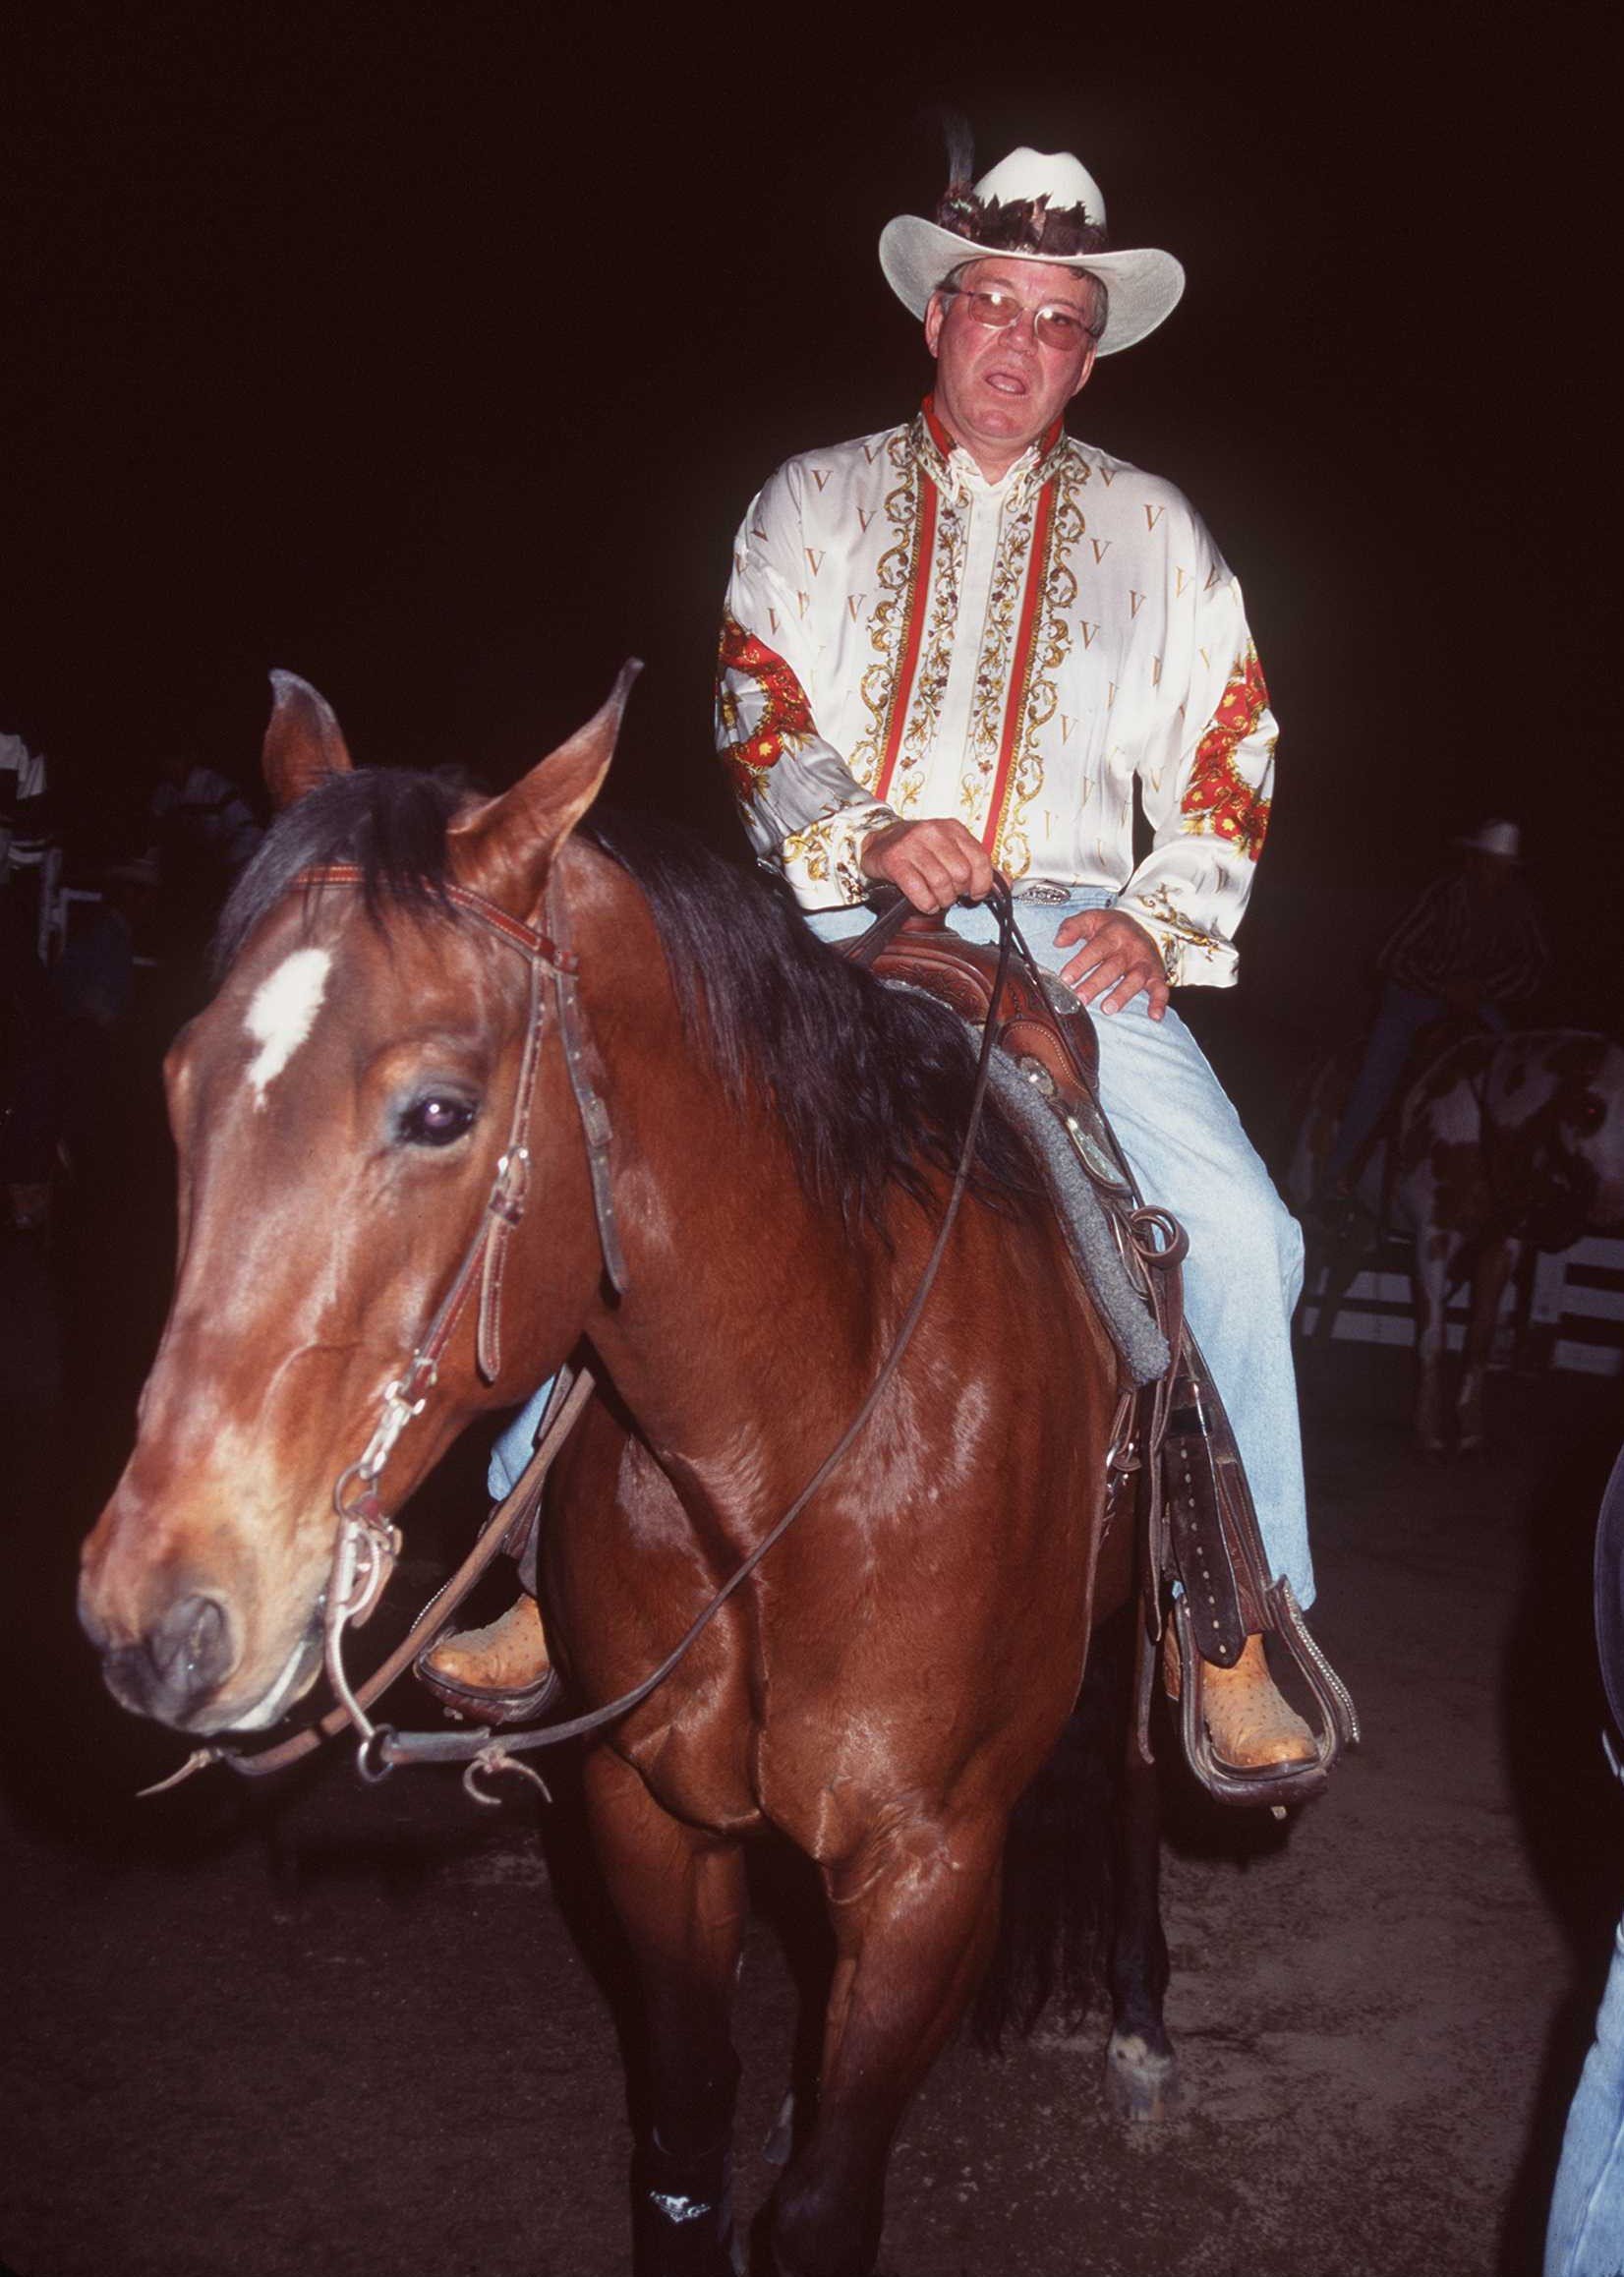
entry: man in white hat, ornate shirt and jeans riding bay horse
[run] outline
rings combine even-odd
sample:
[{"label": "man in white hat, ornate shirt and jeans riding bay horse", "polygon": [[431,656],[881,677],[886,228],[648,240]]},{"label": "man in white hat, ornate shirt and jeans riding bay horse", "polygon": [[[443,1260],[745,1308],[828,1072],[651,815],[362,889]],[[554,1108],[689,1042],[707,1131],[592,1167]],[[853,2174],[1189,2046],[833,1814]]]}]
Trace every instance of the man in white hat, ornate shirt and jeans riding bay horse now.
[{"label": "man in white hat, ornate shirt and jeans riding bay horse", "polygon": [[[879,239],[936,383],[904,424],[809,451],[738,533],[717,742],[758,858],[829,940],[897,886],[920,911],[1002,870],[1036,956],[1100,1016],[1100,1091],[1143,1193],[1191,1236],[1187,1305],[1230,1407],[1269,1571],[1312,1601],[1289,1323],[1303,1243],[1168,1006],[1235,981],[1235,929],[1269,827],[1276,726],[1241,592],[1180,492],[1064,430],[1096,357],[1153,332],[1184,287],[1159,250],[1107,250],[1071,155],[1014,150],[936,216]],[[1134,790],[1155,845],[1132,858]],[[954,913],[993,938],[986,909]],[[836,1236],[838,1239],[838,1236]],[[524,1457],[540,1407],[499,1448]],[[531,1601],[428,1662],[487,1712],[544,1683]],[[1314,1753],[1262,1639],[1207,1669],[1216,1753]]]}]

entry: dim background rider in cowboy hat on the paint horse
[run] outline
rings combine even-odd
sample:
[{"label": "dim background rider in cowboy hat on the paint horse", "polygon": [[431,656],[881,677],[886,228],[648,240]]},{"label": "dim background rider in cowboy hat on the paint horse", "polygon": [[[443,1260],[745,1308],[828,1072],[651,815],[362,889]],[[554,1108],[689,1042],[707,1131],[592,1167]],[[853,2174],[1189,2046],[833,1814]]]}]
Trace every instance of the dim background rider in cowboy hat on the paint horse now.
[{"label": "dim background rider in cowboy hat on the paint horse", "polygon": [[1506,1034],[1501,1006],[1531,997],[1551,961],[1522,883],[1517,824],[1481,822],[1455,838],[1455,854],[1376,959],[1380,1006],[1319,1184],[1319,1207],[1332,1216],[1348,1205],[1417,1036],[1451,1013]]}]

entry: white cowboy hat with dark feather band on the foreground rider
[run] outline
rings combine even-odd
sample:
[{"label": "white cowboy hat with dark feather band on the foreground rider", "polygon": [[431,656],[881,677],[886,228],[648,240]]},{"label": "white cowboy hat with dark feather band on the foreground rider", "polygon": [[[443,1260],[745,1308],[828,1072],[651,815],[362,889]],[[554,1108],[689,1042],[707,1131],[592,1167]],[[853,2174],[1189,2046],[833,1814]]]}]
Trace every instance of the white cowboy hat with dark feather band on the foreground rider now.
[{"label": "white cowboy hat with dark feather band on the foreground rider", "polygon": [[1100,278],[1112,296],[1100,355],[1155,332],[1184,291],[1184,269],[1171,253],[1105,250],[1100,184],[1071,150],[1011,150],[979,182],[950,182],[934,221],[897,214],[879,237],[886,282],[916,317],[943,278],[977,253],[1057,262]]}]

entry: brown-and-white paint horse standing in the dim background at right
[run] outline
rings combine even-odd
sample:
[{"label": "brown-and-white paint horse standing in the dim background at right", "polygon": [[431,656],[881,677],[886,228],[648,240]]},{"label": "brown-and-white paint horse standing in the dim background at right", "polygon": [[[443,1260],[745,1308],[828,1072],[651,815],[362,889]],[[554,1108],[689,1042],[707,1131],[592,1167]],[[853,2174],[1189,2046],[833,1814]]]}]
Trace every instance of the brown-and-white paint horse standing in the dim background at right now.
[{"label": "brown-and-white paint horse standing in the dim background at right", "polygon": [[[1328,1063],[1310,1098],[1289,1175],[1312,1218],[1339,1091]],[[1624,1050],[1585,1029],[1471,1031],[1424,1057],[1389,1136],[1358,1175],[1360,1211],[1326,1243],[1317,1339],[1392,1225],[1412,1246],[1414,1432],[1430,1455],[1487,1444],[1485,1382],[1506,1287],[1528,1250],[1565,1250],[1624,1220]],[[1471,1287],[1453,1398],[1444,1307]],[[1307,1275],[1312,1302],[1314,1273]]]}]

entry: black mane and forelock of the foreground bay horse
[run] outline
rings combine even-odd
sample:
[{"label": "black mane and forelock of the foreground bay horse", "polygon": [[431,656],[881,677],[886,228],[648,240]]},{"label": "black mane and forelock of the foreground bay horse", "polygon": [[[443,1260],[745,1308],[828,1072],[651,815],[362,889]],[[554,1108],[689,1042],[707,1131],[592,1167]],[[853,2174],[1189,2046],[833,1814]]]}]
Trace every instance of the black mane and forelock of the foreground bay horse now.
[{"label": "black mane and forelock of the foreground bay horse", "polygon": [[[289,806],[221,913],[216,972],[303,870],[355,863],[371,920],[392,909],[458,922],[446,824],[469,799],[449,774],[367,767]],[[676,824],[597,808],[581,836],[642,888],[665,945],[683,1029],[733,1102],[774,1102],[804,1189],[847,1223],[881,1223],[886,1191],[925,1200],[927,1166],[963,1145],[975,1057],[938,1004],[886,988],[836,956],[788,893],[711,854]],[[975,1184],[1018,1207],[1034,1189],[1025,1145],[993,1109]]]}]

